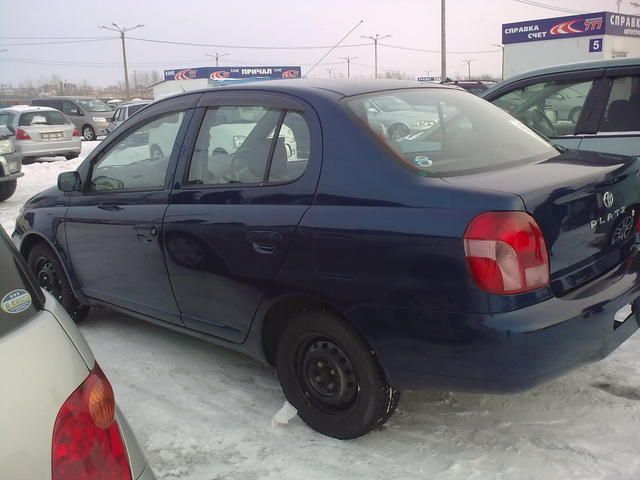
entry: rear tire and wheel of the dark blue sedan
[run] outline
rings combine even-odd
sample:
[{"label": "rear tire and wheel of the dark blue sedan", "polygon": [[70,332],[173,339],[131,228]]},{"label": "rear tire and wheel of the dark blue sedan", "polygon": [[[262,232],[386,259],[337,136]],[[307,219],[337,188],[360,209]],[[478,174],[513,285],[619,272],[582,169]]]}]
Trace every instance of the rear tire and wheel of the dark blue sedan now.
[{"label": "rear tire and wheel of the dark blue sedan", "polygon": [[300,418],[341,440],[382,425],[400,398],[358,332],[328,312],[303,312],[287,324],[276,366],[284,394]]}]

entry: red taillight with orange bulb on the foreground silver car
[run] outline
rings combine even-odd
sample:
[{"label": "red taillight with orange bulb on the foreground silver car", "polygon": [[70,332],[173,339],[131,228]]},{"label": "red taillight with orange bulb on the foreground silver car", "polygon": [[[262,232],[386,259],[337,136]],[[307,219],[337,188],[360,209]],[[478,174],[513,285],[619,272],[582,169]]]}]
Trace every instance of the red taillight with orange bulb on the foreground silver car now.
[{"label": "red taillight with orange bulb on the foreground silver car", "polygon": [[111,384],[96,363],[58,412],[52,480],[131,480],[115,408]]}]

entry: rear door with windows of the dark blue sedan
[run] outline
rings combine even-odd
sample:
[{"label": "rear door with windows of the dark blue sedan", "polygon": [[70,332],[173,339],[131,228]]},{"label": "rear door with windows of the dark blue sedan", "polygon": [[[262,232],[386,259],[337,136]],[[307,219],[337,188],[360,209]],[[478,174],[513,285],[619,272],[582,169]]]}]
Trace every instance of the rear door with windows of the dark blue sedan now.
[{"label": "rear door with windows of the dark blue sedan", "polygon": [[215,92],[164,221],[184,324],[242,342],[312,203],[321,161],[313,110],[287,96]]}]

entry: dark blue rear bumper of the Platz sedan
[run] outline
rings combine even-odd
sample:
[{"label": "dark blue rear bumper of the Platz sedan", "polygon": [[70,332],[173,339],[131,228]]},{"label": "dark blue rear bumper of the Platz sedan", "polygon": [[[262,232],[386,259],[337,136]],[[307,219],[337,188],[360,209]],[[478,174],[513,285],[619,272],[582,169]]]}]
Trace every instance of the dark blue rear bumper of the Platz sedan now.
[{"label": "dark blue rear bumper of the Platz sedan", "polygon": [[[600,360],[640,326],[640,256],[562,298],[500,314],[356,309],[391,384],[506,393]],[[614,316],[634,312],[614,329]]]}]

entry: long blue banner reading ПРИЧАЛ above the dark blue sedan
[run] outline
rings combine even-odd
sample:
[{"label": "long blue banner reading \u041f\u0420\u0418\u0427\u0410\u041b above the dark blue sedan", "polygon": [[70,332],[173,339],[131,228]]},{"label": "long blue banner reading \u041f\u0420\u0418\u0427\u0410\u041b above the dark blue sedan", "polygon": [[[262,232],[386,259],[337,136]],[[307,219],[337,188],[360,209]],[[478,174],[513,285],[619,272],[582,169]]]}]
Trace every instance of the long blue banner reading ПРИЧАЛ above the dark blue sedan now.
[{"label": "long blue banner reading \u041f\u0420\u0418\u0427\u0410\u041b above the dark blue sedan", "polygon": [[278,80],[283,78],[300,78],[300,67],[197,67],[165,70],[164,79],[167,80],[195,80],[207,78],[210,80]]}]

